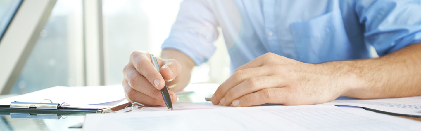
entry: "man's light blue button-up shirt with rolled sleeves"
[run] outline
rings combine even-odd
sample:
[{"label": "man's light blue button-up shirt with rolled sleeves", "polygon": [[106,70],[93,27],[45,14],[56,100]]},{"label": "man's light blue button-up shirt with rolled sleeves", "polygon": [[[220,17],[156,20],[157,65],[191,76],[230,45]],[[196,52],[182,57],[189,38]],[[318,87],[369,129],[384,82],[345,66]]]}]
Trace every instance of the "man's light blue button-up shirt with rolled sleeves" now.
[{"label": "man's light blue button-up shirt with rolled sleeves", "polygon": [[372,58],[421,42],[421,0],[184,0],[162,49],[200,65],[224,34],[232,71],[273,52],[305,63]]}]

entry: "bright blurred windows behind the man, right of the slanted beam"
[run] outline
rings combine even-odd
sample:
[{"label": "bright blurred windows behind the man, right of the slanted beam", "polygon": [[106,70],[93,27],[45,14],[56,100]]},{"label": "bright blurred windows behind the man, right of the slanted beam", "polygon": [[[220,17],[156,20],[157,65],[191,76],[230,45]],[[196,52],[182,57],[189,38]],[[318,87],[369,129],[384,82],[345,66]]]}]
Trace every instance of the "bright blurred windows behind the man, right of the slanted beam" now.
[{"label": "bright blurred windows behind the man, right of the slanted beam", "polygon": [[[0,29],[20,0],[0,1]],[[90,0],[88,0],[90,1]],[[98,1],[98,0],[93,0]],[[52,86],[121,85],[122,70],[131,52],[159,55],[181,0],[99,0],[100,16],[90,16],[86,0],[57,0],[10,94]],[[95,19],[98,18],[98,19]],[[97,36],[102,48],[91,48],[86,33],[90,20],[100,20]],[[229,56],[221,29],[216,53],[194,68],[191,83],[222,83],[229,76]],[[103,60],[89,58],[100,53]],[[100,71],[92,71],[99,68]]]}]

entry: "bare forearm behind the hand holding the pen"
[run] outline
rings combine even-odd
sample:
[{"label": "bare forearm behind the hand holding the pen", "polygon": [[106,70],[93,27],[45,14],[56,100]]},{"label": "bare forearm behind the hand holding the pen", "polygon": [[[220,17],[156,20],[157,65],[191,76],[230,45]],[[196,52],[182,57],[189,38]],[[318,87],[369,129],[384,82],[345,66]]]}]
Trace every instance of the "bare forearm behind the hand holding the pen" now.
[{"label": "bare forearm behind the hand holding the pen", "polygon": [[172,91],[180,91],[184,89],[187,84],[189,84],[190,77],[192,74],[192,69],[195,66],[195,63],[183,52],[173,49],[165,49],[161,52],[161,58],[163,59],[175,59],[181,64],[181,77],[180,81],[170,88]]}]

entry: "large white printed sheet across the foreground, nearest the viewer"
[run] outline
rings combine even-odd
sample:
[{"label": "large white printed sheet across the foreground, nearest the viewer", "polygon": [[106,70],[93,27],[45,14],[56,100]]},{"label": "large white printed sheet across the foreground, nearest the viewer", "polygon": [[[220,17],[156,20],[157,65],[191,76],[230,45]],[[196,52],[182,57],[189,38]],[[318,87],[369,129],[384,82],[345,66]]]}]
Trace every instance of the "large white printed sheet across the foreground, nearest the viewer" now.
[{"label": "large white printed sheet across the foreground, nearest the viewer", "polygon": [[421,122],[333,105],[87,114],[85,131],[417,131]]}]

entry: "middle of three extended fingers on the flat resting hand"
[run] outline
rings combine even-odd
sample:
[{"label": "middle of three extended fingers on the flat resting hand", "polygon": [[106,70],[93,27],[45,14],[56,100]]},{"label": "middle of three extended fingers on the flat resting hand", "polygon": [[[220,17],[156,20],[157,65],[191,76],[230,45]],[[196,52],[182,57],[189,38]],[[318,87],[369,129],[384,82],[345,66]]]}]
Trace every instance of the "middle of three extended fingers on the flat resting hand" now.
[{"label": "middle of three extended fingers on the flat resting hand", "polygon": [[221,105],[231,105],[232,101],[246,94],[257,92],[262,89],[285,86],[285,80],[275,76],[252,76],[226,92],[221,100]]}]

